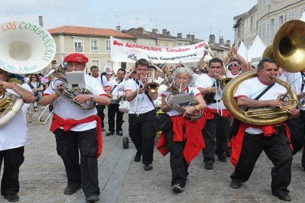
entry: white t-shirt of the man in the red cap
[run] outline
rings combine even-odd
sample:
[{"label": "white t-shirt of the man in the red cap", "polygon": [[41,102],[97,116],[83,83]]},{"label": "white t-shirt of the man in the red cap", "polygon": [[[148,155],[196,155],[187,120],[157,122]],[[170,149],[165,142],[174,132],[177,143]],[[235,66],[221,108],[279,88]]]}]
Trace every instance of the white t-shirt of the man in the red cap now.
[{"label": "white t-shirt of the man in the red cap", "polygon": [[[102,86],[98,81],[89,75],[84,74],[86,88],[92,91],[94,95],[100,96],[107,96],[105,91],[103,90]],[[58,81],[55,86],[60,84],[61,81]],[[44,95],[52,95],[54,94],[54,90],[51,87],[48,87],[44,91]],[[62,96],[59,96],[56,100],[56,104],[54,105],[54,114],[57,114],[59,117],[63,119],[74,119],[74,120],[81,120],[87,118],[92,115],[96,115],[97,109],[93,108],[91,110],[81,110],[75,105],[71,104],[70,101],[65,99]],[[89,129],[93,129],[97,126],[96,121],[88,122],[88,123],[81,123],[75,125],[71,128],[72,131],[85,131]],[[62,128],[63,129],[63,128]]]}]

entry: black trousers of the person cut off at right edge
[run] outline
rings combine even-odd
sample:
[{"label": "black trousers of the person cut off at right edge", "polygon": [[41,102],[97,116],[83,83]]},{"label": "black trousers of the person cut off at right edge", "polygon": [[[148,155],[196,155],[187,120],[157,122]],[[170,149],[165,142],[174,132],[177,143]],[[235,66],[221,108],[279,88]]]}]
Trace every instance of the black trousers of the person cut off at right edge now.
[{"label": "black trousers of the person cut off at right edge", "polygon": [[[290,140],[293,149],[293,155],[300,151],[305,144],[305,111],[300,110],[297,118],[287,120],[290,129]],[[305,149],[303,148],[302,167],[305,168]]]}]

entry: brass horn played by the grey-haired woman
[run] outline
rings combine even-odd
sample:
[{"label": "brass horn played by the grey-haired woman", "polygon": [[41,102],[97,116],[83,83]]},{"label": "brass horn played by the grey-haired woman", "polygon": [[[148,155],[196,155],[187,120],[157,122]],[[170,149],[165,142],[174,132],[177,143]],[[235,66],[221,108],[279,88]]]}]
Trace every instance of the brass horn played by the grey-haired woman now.
[{"label": "brass horn played by the grey-haired woman", "polygon": [[[165,103],[167,104],[167,106],[169,106],[170,108],[172,108],[173,110],[175,110],[176,112],[178,112],[179,114],[184,114],[185,113],[185,109],[180,107],[180,106],[175,106],[173,107],[170,103],[169,103],[169,97],[170,96],[175,96],[177,94],[180,93],[184,93],[183,90],[181,90],[181,85],[178,87],[174,81],[173,77],[167,77],[165,80],[162,81],[160,87],[162,87],[163,89],[165,89],[164,91],[169,91],[170,93],[165,97]],[[164,88],[165,87],[165,88]],[[196,99],[194,102],[190,103],[188,106],[196,106],[198,105]],[[190,119],[190,121],[195,121],[199,118],[201,118],[203,116],[203,111],[198,111],[198,112],[194,112],[193,114],[188,114],[186,115],[186,117],[188,119]]]}]

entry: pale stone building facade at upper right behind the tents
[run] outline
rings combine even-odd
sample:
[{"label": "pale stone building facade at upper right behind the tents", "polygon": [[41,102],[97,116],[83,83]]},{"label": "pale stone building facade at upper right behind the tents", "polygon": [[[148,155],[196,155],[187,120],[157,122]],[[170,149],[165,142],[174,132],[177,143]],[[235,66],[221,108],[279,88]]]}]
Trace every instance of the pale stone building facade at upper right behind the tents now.
[{"label": "pale stone building facade at upper right behind the tents", "polygon": [[248,12],[234,17],[235,42],[239,39],[249,48],[259,35],[269,46],[282,24],[300,19],[304,12],[304,0],[258,0]]}]

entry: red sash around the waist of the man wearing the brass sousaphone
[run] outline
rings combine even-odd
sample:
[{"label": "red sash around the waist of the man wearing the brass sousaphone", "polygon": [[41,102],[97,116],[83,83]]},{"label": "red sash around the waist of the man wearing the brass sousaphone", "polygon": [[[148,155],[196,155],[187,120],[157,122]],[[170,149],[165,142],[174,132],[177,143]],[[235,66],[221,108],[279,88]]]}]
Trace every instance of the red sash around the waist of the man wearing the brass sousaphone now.
[{"label": "red sash around the waist of the man wearing the brass sousaphone", "polygon": [[[289,130],[288,126],[286,125],[286,123],[281,122],[281,123],[278,123],[278,125],[285,126],[286,136],[290,141],[290,130]],[[238,159],[239,159],[239,156],[241,153],[241,148],[242,148],[243,136],[245,135],[245,130],[248,127],[261,129],[264,133],[264,136],[266,136],[266,137],[270,137],[270,136],[272,136],[273,133],[276,132],[275,125],[252,125],[252,124],[241,121],[239,124],[239,129],[238,129],[236,136],[234,136],[231,139],[230,143],[228,144],[229,147],[232,147],[232,155],[231,155],[230,160],[231,160],[231,163],[234,165],[234,167],[236,167],[236,165],[238,163]],[[290,148],[292,150],[291,144],[290,144]]]}]

